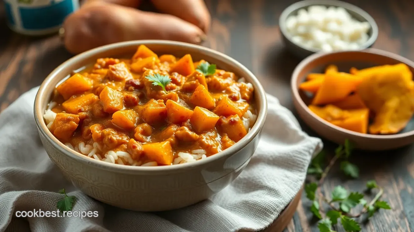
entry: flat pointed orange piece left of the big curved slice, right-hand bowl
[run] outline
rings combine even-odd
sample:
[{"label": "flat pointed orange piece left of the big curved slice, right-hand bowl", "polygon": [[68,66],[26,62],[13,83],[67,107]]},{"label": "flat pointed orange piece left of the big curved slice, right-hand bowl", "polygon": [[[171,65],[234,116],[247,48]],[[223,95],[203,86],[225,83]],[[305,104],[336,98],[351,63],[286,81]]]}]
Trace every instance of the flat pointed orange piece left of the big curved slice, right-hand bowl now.
[{"label": "flat pointed orange piece left of the big curved slice, right-hand bowl", "polygon": [[314,105],[330,104],[345,99],[361,83],[361,78],[346,72],[329,72],[325,75],[315,98]]}]

